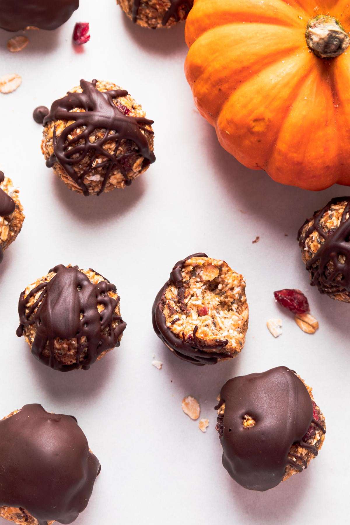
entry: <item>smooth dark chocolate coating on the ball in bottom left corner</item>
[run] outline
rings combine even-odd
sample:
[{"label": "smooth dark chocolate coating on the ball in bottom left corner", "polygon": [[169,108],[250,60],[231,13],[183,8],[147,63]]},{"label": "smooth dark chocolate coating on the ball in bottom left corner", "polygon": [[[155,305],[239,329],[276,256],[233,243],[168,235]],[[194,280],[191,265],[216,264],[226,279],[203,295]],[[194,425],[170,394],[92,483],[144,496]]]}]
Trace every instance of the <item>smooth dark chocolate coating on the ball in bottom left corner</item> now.
[{"label": "smooth dark chocolate coating on the ball in bottom left corner", "polygon": [[39,525],[72,523],[90,499],[100,463],[71,416],[25,405],[0,421],[0,506]]}]

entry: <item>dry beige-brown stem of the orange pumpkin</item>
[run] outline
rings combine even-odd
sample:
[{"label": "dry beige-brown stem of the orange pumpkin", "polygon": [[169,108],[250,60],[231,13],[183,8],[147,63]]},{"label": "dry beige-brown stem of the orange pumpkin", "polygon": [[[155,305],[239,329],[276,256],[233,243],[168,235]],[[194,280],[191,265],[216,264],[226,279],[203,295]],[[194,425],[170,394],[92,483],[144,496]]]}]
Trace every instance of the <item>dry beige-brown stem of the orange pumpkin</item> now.
[{"label": "dry beige-brown stem of the orange pumpkin", "polygon": [[309,48],[320,58],[338,57],[350,44],[348,34],[333,16],[311,18],[305,36]]}]

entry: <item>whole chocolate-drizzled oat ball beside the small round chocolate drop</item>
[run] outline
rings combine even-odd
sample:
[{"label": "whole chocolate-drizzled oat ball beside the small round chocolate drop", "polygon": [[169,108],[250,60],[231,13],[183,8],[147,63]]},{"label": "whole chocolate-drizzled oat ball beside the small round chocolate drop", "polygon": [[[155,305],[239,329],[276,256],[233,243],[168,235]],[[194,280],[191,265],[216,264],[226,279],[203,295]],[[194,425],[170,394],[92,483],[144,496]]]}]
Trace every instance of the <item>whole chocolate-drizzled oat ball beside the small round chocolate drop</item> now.
[{"label": "whole chocolate-drizzled oat ball beside the small round chocolate drop", "polygon": [[81,80],[44,118],[46,165],[86,196],[129,186],[155,161],[153,120],[145,115],[128,91]]}]

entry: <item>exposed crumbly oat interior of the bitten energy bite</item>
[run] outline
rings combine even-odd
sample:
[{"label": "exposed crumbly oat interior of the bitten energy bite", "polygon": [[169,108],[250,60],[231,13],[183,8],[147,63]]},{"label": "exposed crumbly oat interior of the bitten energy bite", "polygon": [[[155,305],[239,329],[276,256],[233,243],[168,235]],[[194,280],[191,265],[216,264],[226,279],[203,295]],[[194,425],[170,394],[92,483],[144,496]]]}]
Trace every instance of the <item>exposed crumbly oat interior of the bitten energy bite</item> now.
[{"label": "exposed crumbly oat interior of the bitten energy bite", "polygon": [[169,283],[162,299],[167,328],[206,352],[240,352],[248,326],[243,277],[209,257],[185,260],[181,274],[181,290]]}]

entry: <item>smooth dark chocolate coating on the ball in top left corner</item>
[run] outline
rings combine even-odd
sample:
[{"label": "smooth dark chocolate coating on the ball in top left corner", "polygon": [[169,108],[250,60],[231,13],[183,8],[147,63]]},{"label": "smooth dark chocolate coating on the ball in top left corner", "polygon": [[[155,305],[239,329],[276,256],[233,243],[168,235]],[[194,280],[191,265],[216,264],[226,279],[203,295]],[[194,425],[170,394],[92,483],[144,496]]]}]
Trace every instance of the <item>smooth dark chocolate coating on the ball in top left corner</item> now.
[{"label": "smooth dark chocolate coating on the ball in top left corner", "polygon": [[79,0],[0,0],[0,27],[19,31],[28,26],[56,29],[78,9]]}]

